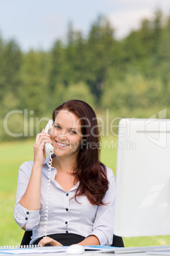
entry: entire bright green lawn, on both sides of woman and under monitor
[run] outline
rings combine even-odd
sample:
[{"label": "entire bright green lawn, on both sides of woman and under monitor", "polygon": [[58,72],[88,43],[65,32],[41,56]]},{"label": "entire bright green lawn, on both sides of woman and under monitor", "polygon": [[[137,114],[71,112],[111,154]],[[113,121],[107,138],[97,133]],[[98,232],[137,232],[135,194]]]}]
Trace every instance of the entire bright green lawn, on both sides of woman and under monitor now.
[{"label": "entire bright green lawn, on both sides of woman and under monitor", "polygon": [[[107,139],[107,142],[106,142]],[[111,141],[111,144],[110,144]],[[117,150],[112,148],[116,138],[103,138],[101,162],[115,173]],[[34,140],[15,141],[0,144],[0,246],[20,245],[23,231],[15,223],[13,212],[16,197],[18,168],[22,162],[33,160]],[[170,236],[152,236],[142,238],[124,238],[125,246],[168,245]]]}]

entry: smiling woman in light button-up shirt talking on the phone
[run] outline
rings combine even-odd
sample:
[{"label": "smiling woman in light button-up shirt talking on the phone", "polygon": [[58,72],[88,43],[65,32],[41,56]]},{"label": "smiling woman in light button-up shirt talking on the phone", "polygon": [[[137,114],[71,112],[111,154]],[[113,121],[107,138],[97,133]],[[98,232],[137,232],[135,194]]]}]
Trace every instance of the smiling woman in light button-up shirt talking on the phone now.
[{"label": "smiling woman in light button-up shirt talking on the phone", "polygon": [[[30,244],[111,245],[115,179],[112,170],[99,160],[100,135],[95,112],[84,101],[71,100],[56,108],[53,122],[51,136],[44,129],[37,134],[34,161],[20,166],[15,220],[22,229],[33,231]],[[48,219],[46,143],[54,146],[55,153]]]}]

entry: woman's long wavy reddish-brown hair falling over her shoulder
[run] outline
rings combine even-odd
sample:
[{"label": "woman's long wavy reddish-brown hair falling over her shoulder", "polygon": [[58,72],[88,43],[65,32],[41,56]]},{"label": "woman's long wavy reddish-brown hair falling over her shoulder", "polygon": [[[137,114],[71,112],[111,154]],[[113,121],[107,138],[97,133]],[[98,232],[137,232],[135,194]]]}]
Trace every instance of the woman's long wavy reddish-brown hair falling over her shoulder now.
[{"label": "woman's long wavy reddish-brown hair falling over her shoulder", "polygon": [[103,205],[108,180],[106,167],[100,162],[101,140],[95,111],[84,101],[70,100],[53,111],[54,122],[60,110],[68,110],[80,118],[82,140],[86,141],[77,155],[75,175],[79,180],[79,187],[75,192],[75,199],[85,194],[91,204]]}]

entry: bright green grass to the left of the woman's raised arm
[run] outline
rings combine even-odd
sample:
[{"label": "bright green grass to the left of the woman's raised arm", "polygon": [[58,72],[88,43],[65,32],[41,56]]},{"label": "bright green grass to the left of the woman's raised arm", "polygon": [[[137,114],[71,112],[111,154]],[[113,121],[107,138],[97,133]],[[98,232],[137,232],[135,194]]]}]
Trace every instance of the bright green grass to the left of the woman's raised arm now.
[{"label": "bright green grass to the left of the woman's raised arm", "polygon": [[34,141],[17,141],[0,144],[0,245],[20,245],[23,231],[14,220],[14,206],[18,168],[33,159]]}]

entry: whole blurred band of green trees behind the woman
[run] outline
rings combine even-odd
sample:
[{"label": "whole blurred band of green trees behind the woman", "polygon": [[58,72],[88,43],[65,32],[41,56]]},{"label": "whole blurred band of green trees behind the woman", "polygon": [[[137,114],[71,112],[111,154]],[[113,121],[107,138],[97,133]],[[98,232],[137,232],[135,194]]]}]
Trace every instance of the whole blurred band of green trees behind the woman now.
[{"label": "whole blurred band of green trees behind the woman", "polygon": [[[0,38],[0,140],[16,139],[3,127],[10,111],[49,118],[67,99],[82,99],[100,111],[109,108],[119,117],[149,117],[163,108],[169,117],[169,41],[170,17],[160,10],[121,40],[102,16],[86,37],[69,24],[67,42],[56,41],[50,52],[22,53],[15,41]],[[9,127],[24,132],[23,115],[10,117]],[[35,131],[34,124],[30,133]]]}]

